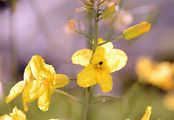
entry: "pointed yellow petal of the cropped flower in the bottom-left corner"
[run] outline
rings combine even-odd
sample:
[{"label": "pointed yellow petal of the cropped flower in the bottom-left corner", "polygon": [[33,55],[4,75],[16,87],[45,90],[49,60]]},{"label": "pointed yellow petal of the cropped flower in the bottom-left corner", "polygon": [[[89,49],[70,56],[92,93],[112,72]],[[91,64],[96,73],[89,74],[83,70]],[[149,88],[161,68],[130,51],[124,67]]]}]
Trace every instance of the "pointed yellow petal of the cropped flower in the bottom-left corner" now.
[{"label": "pointed yellow petal of the cropped flower in the bottom-left corner", "polygon": [[26,115],[17,107],[13,108],[13,112],[10,113],[10,116],[12,116],[13,120],[26,120]]}]

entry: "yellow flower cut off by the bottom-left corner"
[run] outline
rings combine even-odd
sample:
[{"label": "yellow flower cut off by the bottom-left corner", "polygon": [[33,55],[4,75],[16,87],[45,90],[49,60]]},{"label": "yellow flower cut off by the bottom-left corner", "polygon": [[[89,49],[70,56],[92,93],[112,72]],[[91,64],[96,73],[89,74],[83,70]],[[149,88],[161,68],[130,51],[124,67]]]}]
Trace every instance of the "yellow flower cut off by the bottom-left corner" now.
[{"label": "yellow flower cut off by the bottom-left corner", "polygon": [[26,116],[21,110],[15,107],[12,113],[1,116],[0,120],[26,120]]}]

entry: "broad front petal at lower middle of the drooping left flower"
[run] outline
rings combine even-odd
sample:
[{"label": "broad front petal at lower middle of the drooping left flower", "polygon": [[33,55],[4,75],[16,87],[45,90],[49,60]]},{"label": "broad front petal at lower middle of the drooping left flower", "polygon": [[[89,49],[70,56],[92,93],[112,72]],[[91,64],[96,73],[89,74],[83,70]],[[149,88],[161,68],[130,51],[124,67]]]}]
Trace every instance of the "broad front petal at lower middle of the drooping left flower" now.
[{"label": "broad front petal at lower middle of the drooping left flower", "polygon": [[23,91],[23,101],[32,102],[37,99],[44,92],[44,85],[40,80],[34,80],[26,84]]}]

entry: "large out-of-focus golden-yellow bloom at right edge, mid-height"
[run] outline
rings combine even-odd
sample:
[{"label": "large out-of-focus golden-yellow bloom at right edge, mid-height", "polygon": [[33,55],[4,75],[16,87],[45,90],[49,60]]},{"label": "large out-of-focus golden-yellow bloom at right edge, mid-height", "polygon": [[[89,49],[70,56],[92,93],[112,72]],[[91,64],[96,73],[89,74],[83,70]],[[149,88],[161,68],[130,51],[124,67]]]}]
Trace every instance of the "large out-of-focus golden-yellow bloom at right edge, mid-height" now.
[{"label": "large out-of-focus golden-yellow bloom at right edge, mid-height", "polygon": [[139,81],[154,85],[163,90],[174,88],[172,64],[169,62],[155,63],[146,57],[141,57],[136,64]]}]

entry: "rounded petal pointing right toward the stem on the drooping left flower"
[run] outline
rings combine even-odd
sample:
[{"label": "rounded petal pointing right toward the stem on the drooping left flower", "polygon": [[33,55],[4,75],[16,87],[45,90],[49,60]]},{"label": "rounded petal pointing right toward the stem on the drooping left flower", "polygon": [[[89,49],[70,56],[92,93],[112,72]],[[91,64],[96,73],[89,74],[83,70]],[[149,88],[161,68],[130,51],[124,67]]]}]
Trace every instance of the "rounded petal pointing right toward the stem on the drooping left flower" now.
[{"label": "rounded petal pointing right toward the stem on the drooping left flower", "polygon": [[53,81],[53,85],[55,88],[64,87],[69,83],[69,78],[64,74],[56,74],[56,78]]}]

